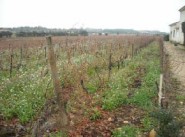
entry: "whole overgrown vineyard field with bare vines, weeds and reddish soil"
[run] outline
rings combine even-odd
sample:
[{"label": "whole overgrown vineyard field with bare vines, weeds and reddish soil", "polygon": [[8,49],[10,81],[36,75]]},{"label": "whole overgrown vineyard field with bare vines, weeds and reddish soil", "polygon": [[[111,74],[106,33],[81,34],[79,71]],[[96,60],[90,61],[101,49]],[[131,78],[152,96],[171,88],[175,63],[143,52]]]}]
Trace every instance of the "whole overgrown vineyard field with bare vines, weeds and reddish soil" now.
[{"label": "whole overgrown vineyard field with bare vines, weeds and reddish soil", "polygon": [[158,126],[150,114],[158,108],[160,40],[53,37],[69,121],[61,127],[46,38],[0,39],[0,135],[146,136]]}]

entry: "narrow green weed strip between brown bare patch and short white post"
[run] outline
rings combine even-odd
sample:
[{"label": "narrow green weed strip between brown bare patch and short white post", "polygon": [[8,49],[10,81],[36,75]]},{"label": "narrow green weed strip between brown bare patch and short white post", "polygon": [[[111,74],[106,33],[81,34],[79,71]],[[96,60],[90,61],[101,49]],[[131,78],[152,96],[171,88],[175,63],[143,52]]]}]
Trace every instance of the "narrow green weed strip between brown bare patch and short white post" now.
[{"label": "narrow green weed strip between brown bare patch and short white post", "polygon": [[152,45],[145,48],[138,55],[140,56],[138,58],[142,58],[142,62],[145,65],[146,74],[142,80],[142,86],[135,90],[135,94],[131,99],[128,99],[129,103],[146,110],[154,107],[152,98],[157,95],[155,82],[158,80],[160,74],[159,56],[157,56],[158,50],[156,45]]}]

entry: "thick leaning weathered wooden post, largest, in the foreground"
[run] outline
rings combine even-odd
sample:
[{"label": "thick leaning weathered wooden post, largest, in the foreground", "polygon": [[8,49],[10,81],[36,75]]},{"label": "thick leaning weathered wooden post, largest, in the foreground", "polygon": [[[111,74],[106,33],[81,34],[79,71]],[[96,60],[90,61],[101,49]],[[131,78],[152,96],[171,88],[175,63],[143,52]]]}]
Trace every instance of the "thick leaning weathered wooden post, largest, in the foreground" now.
[{"label": "thick leaning weathered wooden post, largest, in the foreground", "polygon": [[56,100],[59,106],[59,113],[61,116],[61,121],[59,122],[60,122],[61,127],[64,127],[68,124],[68,117],[67,117],[67,113],[65,110],[64,96],[61,95],[62,88],[60,87],[60,81],[59,81],[59,77],[57,74],[58,70],[56,66],[56,56],[54,54],[51,36],[46,37],[46,40],[47,40],[47,46],[48,46],[48,59],[49,59],[50,67],[51,67],[51,75],[53,79],[55,96],[56,96]]}]

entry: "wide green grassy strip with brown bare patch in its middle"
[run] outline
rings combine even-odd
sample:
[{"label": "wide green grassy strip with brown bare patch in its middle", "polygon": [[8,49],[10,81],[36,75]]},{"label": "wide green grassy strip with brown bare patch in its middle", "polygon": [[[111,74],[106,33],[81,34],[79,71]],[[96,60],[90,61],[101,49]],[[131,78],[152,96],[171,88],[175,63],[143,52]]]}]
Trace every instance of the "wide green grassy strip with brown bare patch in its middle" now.
[{"label": "wide green grassy strip with brown bare patch in its middle", "polygon": [[[103,108],[112,110],[122,104],[134,104],[146,110],[154,107],[155,82],[160,74],[159,47],[152,43],[137,54],[124,68],[113,69],[109,88],[103,95]],[[139,84],[138,84],[139,82]],[[131,97],[128,98],[128,94]]]}]

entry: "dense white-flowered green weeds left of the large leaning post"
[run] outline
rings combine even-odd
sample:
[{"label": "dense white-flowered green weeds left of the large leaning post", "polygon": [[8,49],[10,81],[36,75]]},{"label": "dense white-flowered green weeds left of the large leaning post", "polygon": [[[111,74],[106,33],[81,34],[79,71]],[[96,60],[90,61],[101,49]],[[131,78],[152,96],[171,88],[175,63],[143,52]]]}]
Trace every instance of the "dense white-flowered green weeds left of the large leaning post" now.
[{"label": "dense white-flowered green weeds left of the large leaning post", "polygon": [[40,79],[40,73],[33,73],[22,72],[16,81],[4,80],[0,90],[0,112],[6,118],[16,116],[25,123],[43,107],[48,77]]}]

